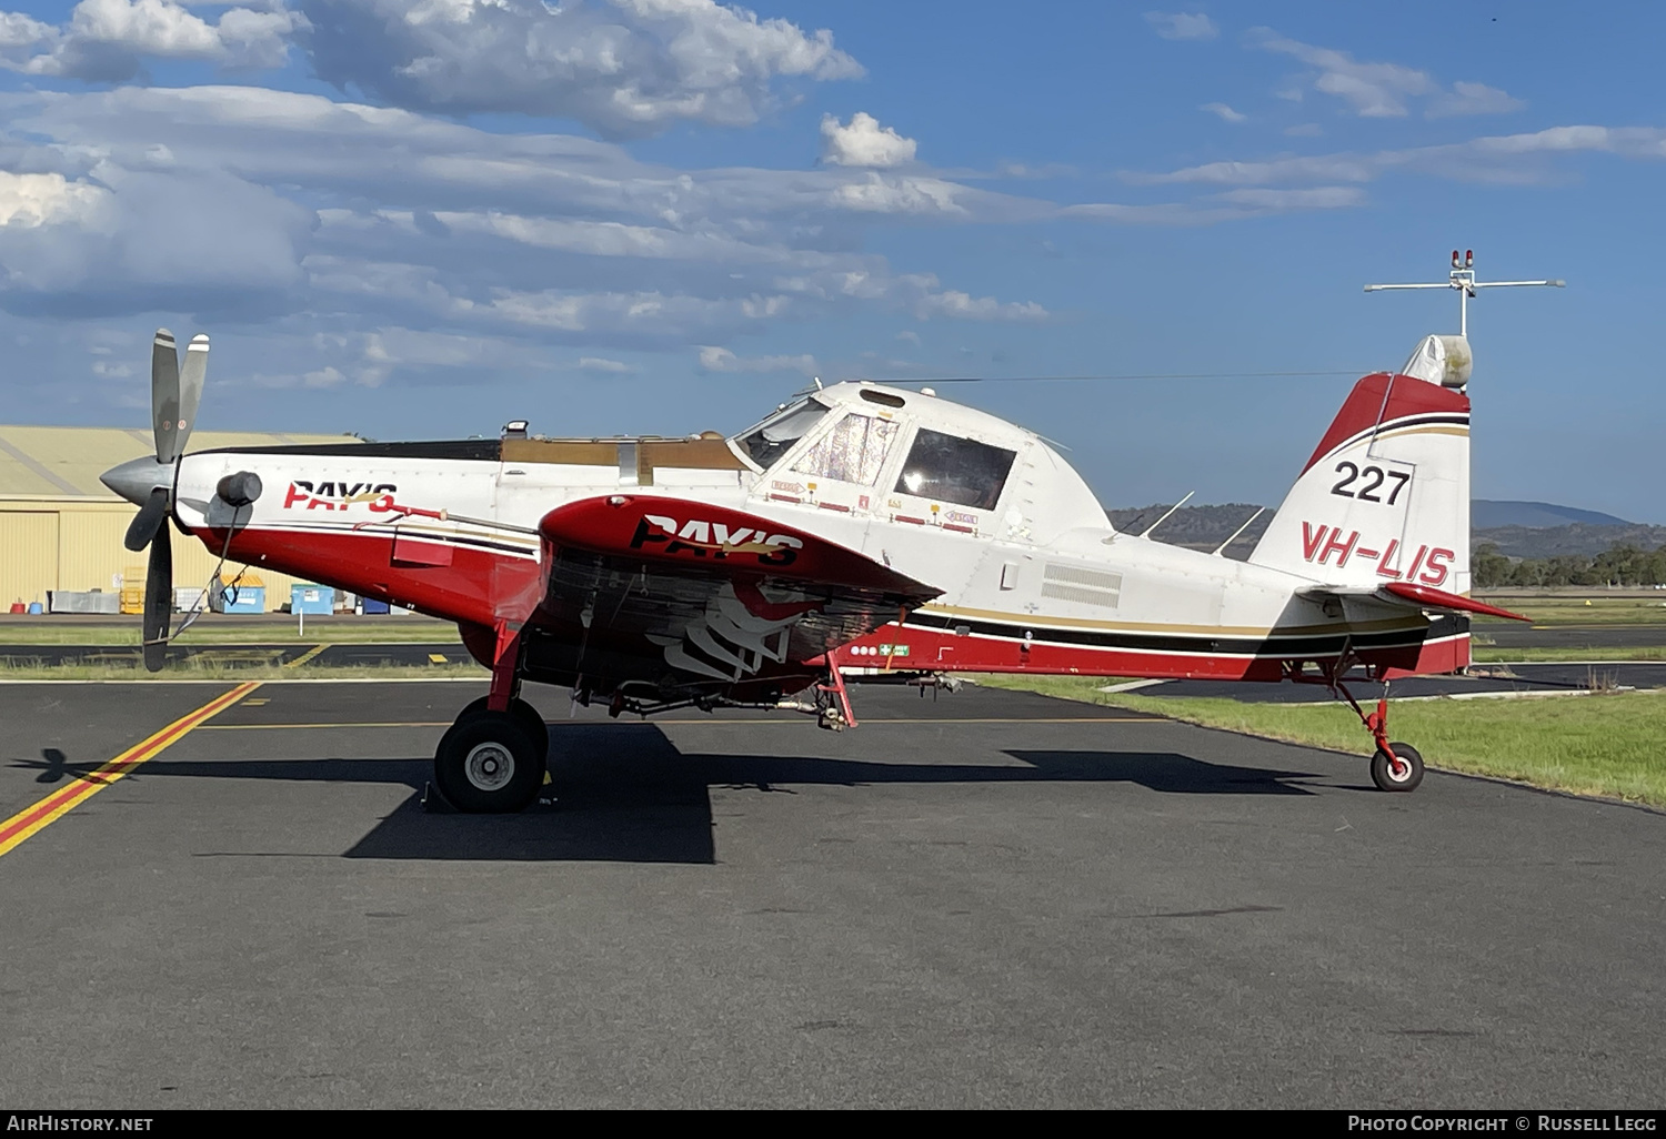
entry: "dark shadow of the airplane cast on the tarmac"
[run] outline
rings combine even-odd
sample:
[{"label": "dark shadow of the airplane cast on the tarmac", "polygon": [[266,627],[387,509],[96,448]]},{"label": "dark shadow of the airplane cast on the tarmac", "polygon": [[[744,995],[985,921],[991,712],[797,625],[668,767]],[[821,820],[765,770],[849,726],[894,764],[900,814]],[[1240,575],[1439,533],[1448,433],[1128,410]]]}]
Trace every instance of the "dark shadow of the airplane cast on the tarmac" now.
[{"label": "dark shadow of the airplane cast on the tarmac", "polygon": [[[421,759],[152,759],[128,779],[275,779],[402,784],[412,796],[343,858],[715,863],[710,788],[791,793],[795,784],[1136,783],[1168,794],[1311,794],[1304,771],[1205,763],[1148,751],[1008,751],[1025,766],[868,763],[768,754],[685,754],[653,724],[563,724],[551,733],[553,783],[521,814],[430,813],[431,763]],[[13,761],[42,781],[88,778],[97,764],[58,753]],[[205,853],[212,854],[212,853]],[[237,854],[255,854],[238,851]]]}]

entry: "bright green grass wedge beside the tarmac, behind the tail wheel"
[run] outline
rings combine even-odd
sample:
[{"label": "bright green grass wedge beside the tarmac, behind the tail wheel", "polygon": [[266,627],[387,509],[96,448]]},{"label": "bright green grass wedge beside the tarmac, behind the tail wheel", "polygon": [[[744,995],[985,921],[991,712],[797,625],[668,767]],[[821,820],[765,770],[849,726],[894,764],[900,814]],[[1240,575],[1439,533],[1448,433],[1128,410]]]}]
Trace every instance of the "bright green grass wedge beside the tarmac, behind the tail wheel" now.
[{"label": "bright green grass wedge beside the tarmac, behind the tail wheel", "polygon": [[[1369,736],[1344,704],[1289,708],[1100,693],[1101,684],[1115,681],[1083,676],[978,676],[976,681],[1361,758],[1371,751]],[[1389,734],[1413,744],[1433,768],[1666,806],[1666,693],[1411,701],[1394,704],[1389,723]]]}]

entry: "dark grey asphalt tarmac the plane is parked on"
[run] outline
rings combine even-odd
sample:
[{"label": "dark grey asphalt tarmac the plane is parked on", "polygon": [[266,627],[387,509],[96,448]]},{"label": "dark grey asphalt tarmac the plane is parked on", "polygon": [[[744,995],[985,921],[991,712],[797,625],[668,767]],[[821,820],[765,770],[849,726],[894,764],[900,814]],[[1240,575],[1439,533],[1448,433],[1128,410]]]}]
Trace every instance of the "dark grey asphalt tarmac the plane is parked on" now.
[{"label": "dark grey asphalt tarmac the plane is parked on", "polygon": [[[230,691],[0,684],[0,816]],[[260,684],[0,854],[0,1102],[1666,1101],[1658,813],[976,688],[538,691],[551,801],[425,813],[481,691]]]}]

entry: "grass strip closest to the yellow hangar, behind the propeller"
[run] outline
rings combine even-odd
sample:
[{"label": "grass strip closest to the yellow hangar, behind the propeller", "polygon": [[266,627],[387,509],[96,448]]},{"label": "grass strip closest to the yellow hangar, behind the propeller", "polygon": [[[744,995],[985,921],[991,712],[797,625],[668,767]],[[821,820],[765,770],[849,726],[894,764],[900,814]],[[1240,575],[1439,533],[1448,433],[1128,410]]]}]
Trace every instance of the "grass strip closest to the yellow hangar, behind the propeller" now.
[{"label": "grass strip closest to the yellow hangar, behind the propeller", "polygon": [[[175,616],[175,623],[178,616]],[[0,644],[138,644],[138,618],[108,623],[57,624],[30,621],[0,614]],[[363,619],[363,618],[308,618],[307,634],[295,631],[295,619],[273,621],[237,621],[220,624],[212,616],[202,618],[180,644],[367,644],[375,641],[443,641],[456,643],[456,626],[450,621],[408,616]]]}]

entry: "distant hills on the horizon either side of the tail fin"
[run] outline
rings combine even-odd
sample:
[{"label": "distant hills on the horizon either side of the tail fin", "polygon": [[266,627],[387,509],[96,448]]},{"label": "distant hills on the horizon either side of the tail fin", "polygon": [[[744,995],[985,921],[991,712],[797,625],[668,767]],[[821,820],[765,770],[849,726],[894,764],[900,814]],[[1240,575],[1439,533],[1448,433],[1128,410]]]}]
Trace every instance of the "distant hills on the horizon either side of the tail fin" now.
[{"label": "distant hills on the horizon either side of the tail fin", "polygon": [[[1173,503],[1128,506],[1105,511],[1111,525],[1123,533],[1141,533],[1163,516]],[[1666,526],[1643,526],[1594,510],[1576,510],[1553,503],[1499,503],[1474,500],[1471,506],[1471,541],[1493,543],[1508,558],[1554,558],[1574,555],[1593,558],[1609,546],[1636,546],[1658,550],[1666,546]],[[1188,550],[1215,550],[1228,535],[1243,526],[1256,511],[1254,503],[1226,503],[1223,506],[1181,506],[1155,535]],[[1514,518],[1518,521],[1498,521]],[[1598,521],[1591,521],[1598,520]],[[1268,510],[1226,548],[1228,558],[1245,560],[1273,521]]]}]

